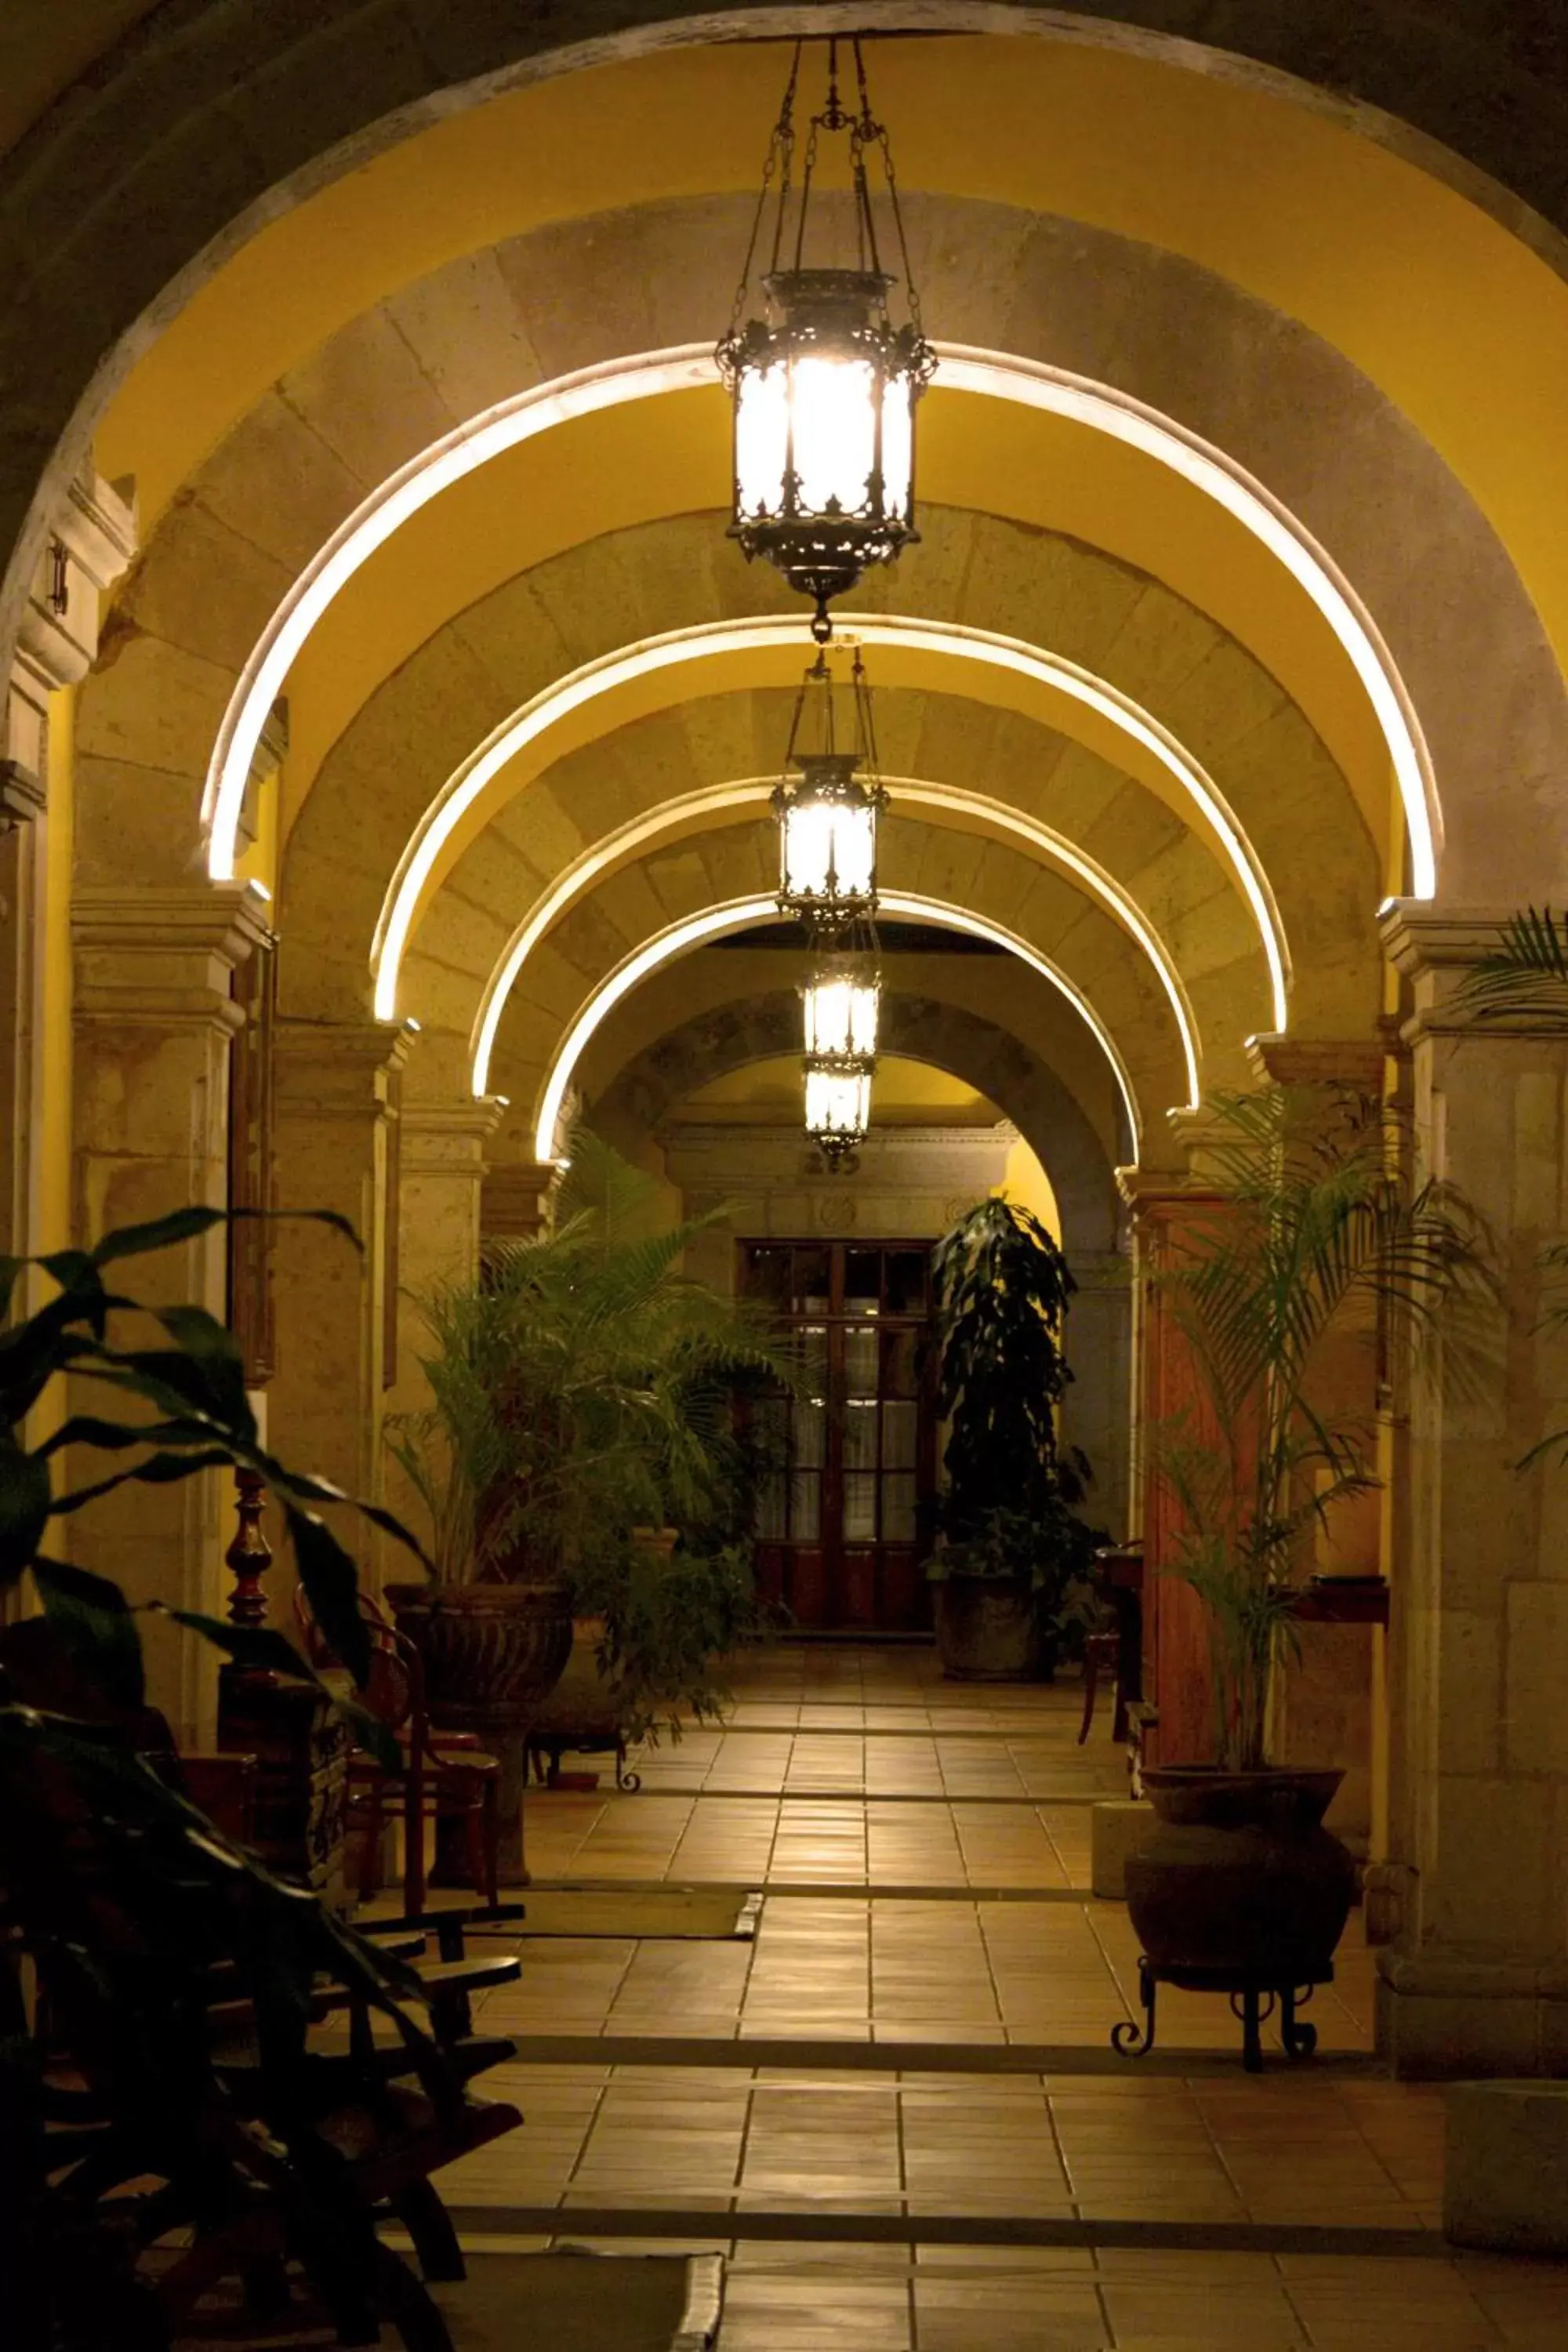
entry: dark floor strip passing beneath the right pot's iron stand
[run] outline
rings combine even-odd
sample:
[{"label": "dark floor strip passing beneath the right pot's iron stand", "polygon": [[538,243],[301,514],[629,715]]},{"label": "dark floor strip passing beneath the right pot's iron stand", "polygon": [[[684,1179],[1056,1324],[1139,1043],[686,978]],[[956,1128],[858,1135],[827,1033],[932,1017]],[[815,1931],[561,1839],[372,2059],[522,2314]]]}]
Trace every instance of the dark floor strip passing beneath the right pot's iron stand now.
[{"label": "dark floor strip passing beneath the right pot's iron stand", "polygon": [[[590,2067],[715,2067],[785,2074],[1114,2074],[1121,2082],[1150,2077],[1239,2077],[1241,2049],[1154,2049],[1124,2058],[1093,2042],[863,2042],[780,2034],[522,2034],[508,2065]],[[1269,2053],[1272,2058],[1272,2053]],[[1309,2063],[1279,2056],[1265,2063],[1281,2079],[1382,2077],[1371,2051],[1319,2051]]]}]

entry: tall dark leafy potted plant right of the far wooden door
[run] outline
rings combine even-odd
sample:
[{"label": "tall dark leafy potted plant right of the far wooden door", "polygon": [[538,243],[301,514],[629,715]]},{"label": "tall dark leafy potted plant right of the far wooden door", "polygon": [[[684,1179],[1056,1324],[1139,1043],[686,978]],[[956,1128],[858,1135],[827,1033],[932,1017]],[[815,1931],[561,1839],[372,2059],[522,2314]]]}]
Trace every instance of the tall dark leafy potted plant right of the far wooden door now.
[{"label": "tall dark leafy potted plant right of the far wooden door", "polygon": [[961,1216],[931,1272],[947,1421],[943,1541],[926,1562],[936,1644],[954,1679],[1018,1682],[1051,1672],[1063,1595],[1105,1541],[1074,1512],[1088,1465],[1056,1435],[1077,1284],[1039,1218],[1006,1200]]}]

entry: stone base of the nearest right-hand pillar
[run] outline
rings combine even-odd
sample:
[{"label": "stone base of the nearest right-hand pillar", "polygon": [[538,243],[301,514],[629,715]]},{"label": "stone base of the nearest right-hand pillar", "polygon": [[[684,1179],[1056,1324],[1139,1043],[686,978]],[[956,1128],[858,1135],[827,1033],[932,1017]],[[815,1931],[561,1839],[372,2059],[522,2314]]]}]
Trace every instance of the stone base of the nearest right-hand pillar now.
[{"label": "stone base of the nearest right-hand pillar", "polygon": [[1378,2056],[1403,2082],[1568,2072],[1568,1973],[1378,1952]]}]

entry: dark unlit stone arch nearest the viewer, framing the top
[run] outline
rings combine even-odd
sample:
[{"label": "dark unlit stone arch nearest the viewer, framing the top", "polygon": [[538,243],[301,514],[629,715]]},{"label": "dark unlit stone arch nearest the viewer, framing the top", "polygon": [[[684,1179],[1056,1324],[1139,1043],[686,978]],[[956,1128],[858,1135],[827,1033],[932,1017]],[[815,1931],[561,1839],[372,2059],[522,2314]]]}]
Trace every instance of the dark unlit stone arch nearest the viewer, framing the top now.
[{"label": "dark unlit stone arch nearest the viewer, framing the top", "polygon": [[[7,242],[35,256],[0,355],[0,376],[14,358],[31,386],[26,430],[0,480],[0,541],[14,543],[0,637],[9,642],[49,501],[80,463],[106,390],[268,212],[437,113],[571,64],[736,33],[830,24],[1030,31],[1037,16],[1046,12],[983,0],[811,9],[731,0],[722,12],[682,0],[578,0],[543,19],[496,14],[489,0],[322,0],[306,16],[259,16],[244,0],[160,7],[106,49],[0,169]],[[1561,85],[1561,26],[1554,31],[1544,9],[1523,24],[1521,9],[1488,9],[1481,31],[1465,24],[1460,0],[1441,0],[1441,16],[1418,33],[1394,5],[1347,21],[1338,0],[1302,0],[1288,12],[1241,0],[1225,16],[1227,47],[1206,49],[1204,66],[1239,80],[1255,80],[1260,66],[1291,75],[1298,103],[1415,148],[1425,169],[1458,179],[1509,226],[1530,223],[1502,191],[1563,226],[1566,108],[1552,87],[1554,68]],[[1053,9],[1037,28],[1180,56],[1185,42],[1201,40],[1208,12],[1197,0],[1175,9],[1166,0],[1086,0],[1067,26]],[[1312,82],[1345,96],[1302,87]]]}]

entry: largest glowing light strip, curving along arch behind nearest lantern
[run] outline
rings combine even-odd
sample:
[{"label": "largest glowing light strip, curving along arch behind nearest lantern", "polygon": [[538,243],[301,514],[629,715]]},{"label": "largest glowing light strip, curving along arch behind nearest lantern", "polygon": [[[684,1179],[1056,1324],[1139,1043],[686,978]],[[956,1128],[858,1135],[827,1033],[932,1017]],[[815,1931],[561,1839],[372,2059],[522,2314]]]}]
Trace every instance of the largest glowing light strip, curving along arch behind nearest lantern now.
[{"label": "largest glowing light strip, curving along arch behind nearest lantern", "polygon": [[[945,388],[976,393],[985,400],[1013,400],[1020,407],[1048,409],[1056,416],[1086,423],[1095,433],[1110,433],[1114,440],[1180,473],[1204,496],[1215,499],[1227,515],[1241,522],[1286,567],[1345,647],[1373,703],[1399,781],[1410,837],[1410,894],[1415,898],[1432,898],[1436,891],[1441,809],[1420,722],[1366,607],[1288,508],[1262,482],[1227,459],[1222,449],[1199,440],[1197,433],[1187,433],[1173,419],[1161,416],[1159,409],[1150,409],[1140,400],[1034,360],[976,350],[966,343],[938,343],[936,348]],[[672,350],[639,353],[599,367],[585,367],[571,376],[557,376],[552,383],[538,383],[515,400],[482,409],[465,426],[458,426],[456,433],[430,442],[428,449],[388,475],[339,524],[301,572],[244,663],[223,713],[223,724],[219,727],[202,795],[207,873],[212,880],[233,880],[249,767],[268,710],[282,694],[301,647],[360,564],[376,548],[386,546],[409,515],[416,515],[421,506],[428,506],[430,499],[437,499],[454,482],[461,482],[463,475],[501,456],[503,449],[534,440],[534,435],[548,433],[552,426],[590,416],[595,409],[621,407],[628,400],[654,400],[661,393],[679,393],[715,381],[717,369],[712,350],[705,343],[682,343]]]}]

